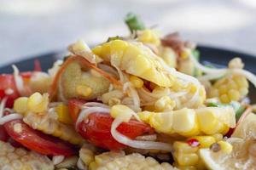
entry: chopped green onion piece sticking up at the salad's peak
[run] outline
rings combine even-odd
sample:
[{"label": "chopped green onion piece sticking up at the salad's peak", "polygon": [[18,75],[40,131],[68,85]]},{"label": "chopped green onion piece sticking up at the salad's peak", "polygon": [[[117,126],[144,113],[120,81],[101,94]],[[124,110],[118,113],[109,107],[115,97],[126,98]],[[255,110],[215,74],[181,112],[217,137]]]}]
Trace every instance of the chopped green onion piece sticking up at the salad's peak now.
[{"label": "chopped green onion piece sticking up at the salad's peak", "polygon": [[137,16],[137,14],[129,13],[125,16],[125,23],[129,27],[130,31],[144,30],[143,21]]}]

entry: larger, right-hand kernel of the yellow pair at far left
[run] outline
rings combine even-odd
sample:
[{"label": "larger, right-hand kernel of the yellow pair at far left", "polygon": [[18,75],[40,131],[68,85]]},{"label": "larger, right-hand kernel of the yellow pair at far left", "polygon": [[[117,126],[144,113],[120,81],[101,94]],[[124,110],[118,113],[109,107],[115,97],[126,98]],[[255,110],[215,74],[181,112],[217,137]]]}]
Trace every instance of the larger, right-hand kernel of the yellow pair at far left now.
[{"label": "larger, right-hand kernel of the yellow pair at far left", "polygon": [[35,94],[32,94],[27,99],[27,109],[35,113],[46,111],[49,104],[48,97],[49,97],[49,94],[42,95],[42,94],[39,94],[38,92]]}]

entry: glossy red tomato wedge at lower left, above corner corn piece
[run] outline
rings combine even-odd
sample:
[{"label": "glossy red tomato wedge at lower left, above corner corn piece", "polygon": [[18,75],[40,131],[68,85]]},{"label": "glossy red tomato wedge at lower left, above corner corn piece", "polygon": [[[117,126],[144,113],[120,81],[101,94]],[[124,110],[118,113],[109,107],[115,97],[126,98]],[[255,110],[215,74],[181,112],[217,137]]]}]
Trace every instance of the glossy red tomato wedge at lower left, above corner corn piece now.
[{"label": "glossy red tomato wedge at lower left, above corner corn piece", "polygon": [[6,122],[3,126],[12,139],[29,150],[35,150],[47,156],[72,156],[76,154],[72,144],[67,144],[61,139],[34,130],[22,120]]}]

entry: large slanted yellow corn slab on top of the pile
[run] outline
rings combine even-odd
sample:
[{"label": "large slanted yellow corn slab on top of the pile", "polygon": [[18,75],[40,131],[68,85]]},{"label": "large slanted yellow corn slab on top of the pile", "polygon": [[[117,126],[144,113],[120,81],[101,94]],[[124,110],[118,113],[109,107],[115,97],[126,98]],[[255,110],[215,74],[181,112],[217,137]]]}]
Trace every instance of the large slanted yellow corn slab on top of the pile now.
[{"label": "large slanted yellow corn slab on top of the pile", "polygon": [[120,70],[161,87],[171,87],[175,82],[175,76],[160,64],[164,61],[141,42],[113,40],[97,46],[92,51],[105,61],[111,61],[111,64]]}]

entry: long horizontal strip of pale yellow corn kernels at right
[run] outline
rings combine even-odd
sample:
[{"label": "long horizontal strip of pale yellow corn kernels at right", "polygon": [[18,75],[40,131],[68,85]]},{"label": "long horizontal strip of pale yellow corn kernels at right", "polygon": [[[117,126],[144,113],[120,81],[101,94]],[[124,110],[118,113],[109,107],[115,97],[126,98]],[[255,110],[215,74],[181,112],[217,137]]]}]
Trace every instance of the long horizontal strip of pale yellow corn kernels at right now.
[{"label": "long horizontal strip of pale yellow corn kernels at right", "polygon": [[225,134],[230,127],[236,126],[235,112],[232,108],[183,108],[166,112],[138,112],[138,116],[159,133],[179,134],[184,137],[199,133]]}]

